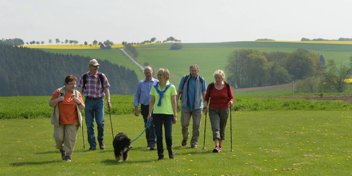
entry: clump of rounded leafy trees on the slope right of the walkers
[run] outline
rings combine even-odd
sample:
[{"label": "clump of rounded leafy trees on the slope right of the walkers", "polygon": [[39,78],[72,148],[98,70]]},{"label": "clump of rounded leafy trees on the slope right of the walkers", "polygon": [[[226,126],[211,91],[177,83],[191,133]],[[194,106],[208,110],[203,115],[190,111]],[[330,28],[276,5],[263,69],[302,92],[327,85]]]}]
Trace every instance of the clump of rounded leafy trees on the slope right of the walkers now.
[{"label": "clump of rounded leafy trees on the slope right of the walkers", "polygon": [[305,49],[271,53],[241,49],[227,58],[227,80],[239,88],[284,84],[321,72],[318,56]]}]

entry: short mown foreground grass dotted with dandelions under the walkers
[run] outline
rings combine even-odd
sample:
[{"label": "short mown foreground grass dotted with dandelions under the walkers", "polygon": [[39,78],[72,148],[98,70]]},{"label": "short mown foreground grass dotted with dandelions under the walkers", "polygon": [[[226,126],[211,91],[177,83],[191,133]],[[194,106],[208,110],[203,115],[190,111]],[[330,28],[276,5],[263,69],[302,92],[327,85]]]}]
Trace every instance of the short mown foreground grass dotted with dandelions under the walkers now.
[{"label": "short mown foreground grass dotted with dandelions under the walkers", "polygon": [[[72,162],[62,161],[59,151],[55,149],[49,118],[6,119],[0,120],[0,170],[1,175],[14,176],[351,175],[350,114],[350,111],[233,112],[233,152],[230,152],[228,119],[226,140],[220,153],[212,153],[214,144],[209,118],[206,124],[206,149],[202,149],[205,117],[202,118],[199,149],[191,149],[189,143],[188,146],[181,146],[178,119],[172,132],[175,159],[166,157],[163,161],[157,161],[157,152],[147,150],[143,134],[132,143],[130,158],[122,163],[118,163],[113,156],[107,114],[106,149],[86,152],[87,141],[86,149],[83,149],[82,132],[78,131]],[[134,115],[112,115],[112,124],[114,134],[124,132],[131,139],[143,130],[142,117]]]}]

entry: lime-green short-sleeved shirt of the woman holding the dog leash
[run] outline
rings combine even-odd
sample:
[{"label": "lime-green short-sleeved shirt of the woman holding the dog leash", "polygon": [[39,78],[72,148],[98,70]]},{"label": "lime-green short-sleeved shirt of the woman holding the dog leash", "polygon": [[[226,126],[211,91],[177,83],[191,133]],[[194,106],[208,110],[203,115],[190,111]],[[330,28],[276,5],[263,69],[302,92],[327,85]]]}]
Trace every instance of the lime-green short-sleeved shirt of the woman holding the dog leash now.
[{"label": "lime-green short-sleeved shirt of the woman holding the dog leash", "polygon": [[[166,85],[169,85],[169,84],[170,82],[167,81]],[[163,90],[165,90],[166,85],[163,88]],[[162,90],[159,84],[158,84],[158,89]],[[161,106],[158,106],[160,96],[154,86],[150,90],[150,95],[153,95],[155,97],[153,114],[174,114],[174,109],[172,109],[171,96],[177,95],[177,92],[173,84],[168,88],[168,90],[164,92],[164,97],[161,98]]]}]

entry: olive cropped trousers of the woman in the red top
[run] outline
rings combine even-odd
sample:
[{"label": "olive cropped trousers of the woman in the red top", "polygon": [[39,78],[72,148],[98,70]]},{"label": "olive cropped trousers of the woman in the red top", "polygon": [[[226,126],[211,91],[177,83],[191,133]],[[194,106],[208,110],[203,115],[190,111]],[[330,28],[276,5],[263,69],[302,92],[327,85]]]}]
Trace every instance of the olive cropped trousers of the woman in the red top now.
[{"label": "olive cropped trousers of the woman in the red top", "polygon": [[216,109],[209,107],[210,125],[212,125],[213,140],[225,140],[225,127],[229,108]]}]

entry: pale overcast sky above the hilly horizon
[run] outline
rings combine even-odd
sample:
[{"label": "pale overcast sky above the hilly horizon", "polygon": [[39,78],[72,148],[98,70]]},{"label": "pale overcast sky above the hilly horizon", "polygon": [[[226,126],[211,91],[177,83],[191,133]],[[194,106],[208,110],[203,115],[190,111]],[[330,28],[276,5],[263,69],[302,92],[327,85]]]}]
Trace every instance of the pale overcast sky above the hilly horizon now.
[{"label": "pale overcast sky above the hilly horizon", "polygon": [[183,43],[352,38],[350,0],[0,0],[0,38]]}]

